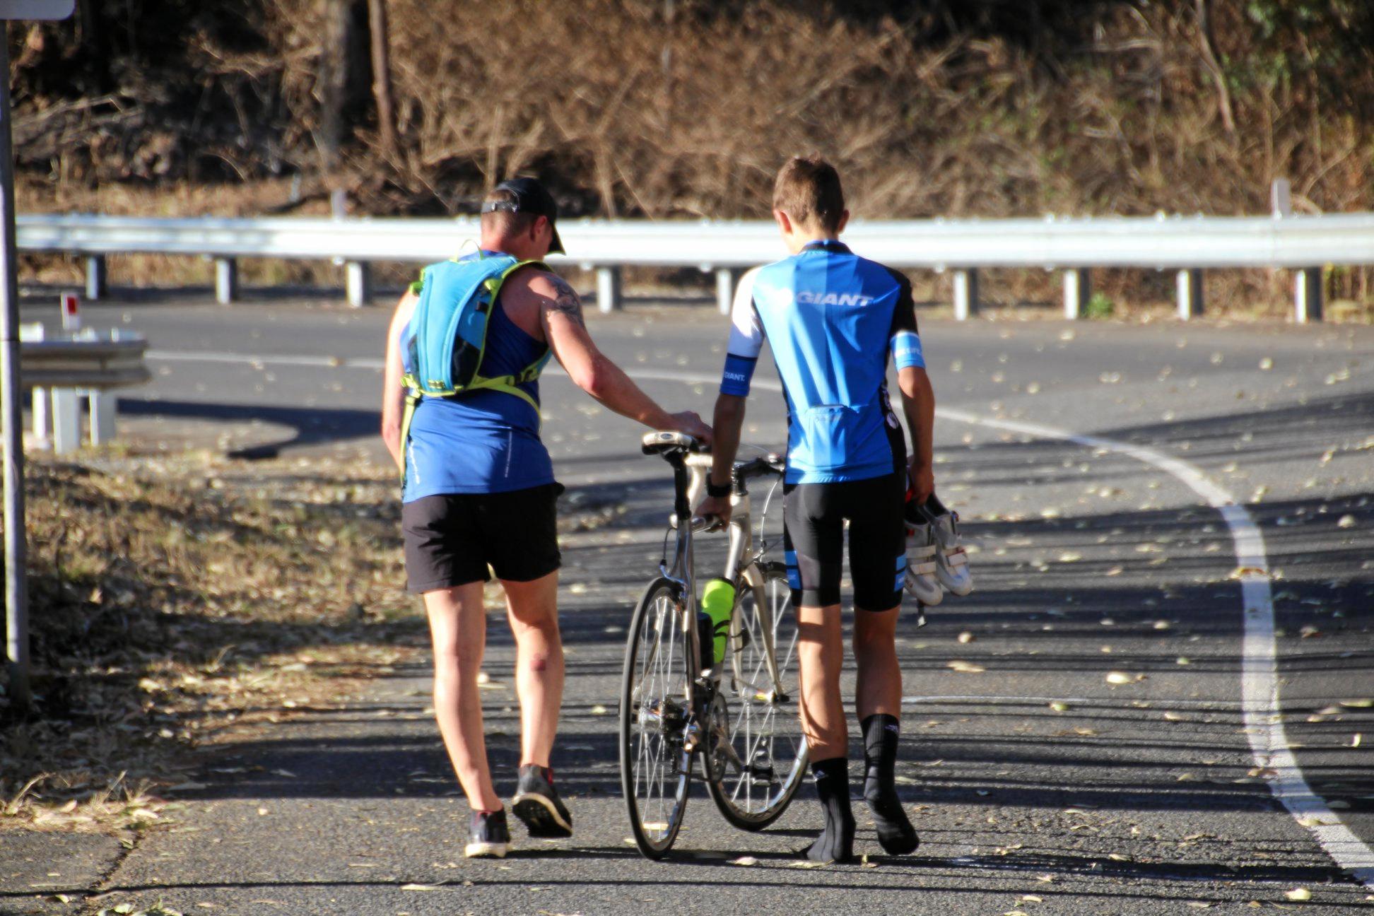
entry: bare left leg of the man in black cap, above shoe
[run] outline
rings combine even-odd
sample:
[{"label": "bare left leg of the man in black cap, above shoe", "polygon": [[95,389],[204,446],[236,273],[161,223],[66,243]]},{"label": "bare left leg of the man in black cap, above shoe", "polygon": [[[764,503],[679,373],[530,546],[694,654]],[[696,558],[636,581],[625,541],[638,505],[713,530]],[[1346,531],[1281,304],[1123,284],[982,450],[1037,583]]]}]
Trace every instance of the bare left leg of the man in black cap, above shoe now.
[{"label": "bare left leg of the man in black cap, above shoe", "polygon": [[477,673],[486,648],[482,582],[425,592],[434,641],[434,718],[458,781],[473,810],[500,810],[492,786],[482,733],[482,699]]}]

